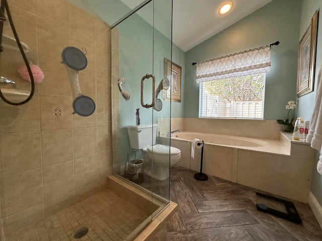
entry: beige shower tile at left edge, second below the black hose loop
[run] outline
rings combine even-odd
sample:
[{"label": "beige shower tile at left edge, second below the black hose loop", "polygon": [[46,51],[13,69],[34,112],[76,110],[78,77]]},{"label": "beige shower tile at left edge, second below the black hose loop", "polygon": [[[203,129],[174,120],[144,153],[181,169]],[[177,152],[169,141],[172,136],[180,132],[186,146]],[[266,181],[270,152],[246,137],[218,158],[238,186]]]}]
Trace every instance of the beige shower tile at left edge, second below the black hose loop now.
[{"label": "beige shower tile at left edge, second below the black hose loop", "polygon": [[40,132],[1,134],[0,145],[2,176],[41,167]]}]

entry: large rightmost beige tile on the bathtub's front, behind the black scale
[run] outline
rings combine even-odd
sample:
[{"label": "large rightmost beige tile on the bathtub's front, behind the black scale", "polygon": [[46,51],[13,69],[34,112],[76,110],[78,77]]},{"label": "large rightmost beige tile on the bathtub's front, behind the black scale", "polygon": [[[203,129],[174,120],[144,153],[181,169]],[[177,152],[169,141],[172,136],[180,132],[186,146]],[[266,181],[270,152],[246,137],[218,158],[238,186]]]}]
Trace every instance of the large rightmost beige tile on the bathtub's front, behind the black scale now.
[{"label": "large rightmost beige tile on the bathtub's front, behind the black scale", "polygon": [[314,160],[238,150],[237,183],[306,203],[313,163]]}]

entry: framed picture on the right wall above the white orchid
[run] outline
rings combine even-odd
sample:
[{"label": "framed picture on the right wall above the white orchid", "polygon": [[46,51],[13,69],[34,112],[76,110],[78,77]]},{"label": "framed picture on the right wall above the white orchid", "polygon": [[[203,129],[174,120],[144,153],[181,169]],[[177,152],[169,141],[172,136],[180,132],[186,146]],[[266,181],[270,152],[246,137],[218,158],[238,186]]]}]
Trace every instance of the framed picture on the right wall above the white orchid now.
[{"label": "framed picture on the right wall above the white orchid", "polygon": [[296,93],[298,97],[313,91],[317,15],[318,11],[315,11],[309,26],[299,42],[296,84]]}]

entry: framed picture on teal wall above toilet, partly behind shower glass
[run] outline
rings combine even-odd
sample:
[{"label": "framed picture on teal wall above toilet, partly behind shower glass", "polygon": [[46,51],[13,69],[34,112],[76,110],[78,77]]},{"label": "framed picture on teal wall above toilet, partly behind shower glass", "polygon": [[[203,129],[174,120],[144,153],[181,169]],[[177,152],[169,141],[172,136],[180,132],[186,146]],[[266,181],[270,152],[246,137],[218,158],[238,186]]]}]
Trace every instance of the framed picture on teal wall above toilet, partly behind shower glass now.
[{"label": "framed picture on teal wall above toilet, partly behind shower glass", "polygon": [[164,92],[165,100],[181,102],[181,67],[165,58],[164,72],[171,83],[171,88]]}]

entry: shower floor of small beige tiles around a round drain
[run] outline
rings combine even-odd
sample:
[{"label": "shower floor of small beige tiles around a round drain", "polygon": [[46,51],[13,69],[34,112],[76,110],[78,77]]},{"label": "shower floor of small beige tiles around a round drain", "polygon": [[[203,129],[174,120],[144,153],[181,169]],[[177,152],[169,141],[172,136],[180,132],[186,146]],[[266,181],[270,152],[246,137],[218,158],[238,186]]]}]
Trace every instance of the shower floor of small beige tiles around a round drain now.
[{"label": "shower floor of small beige tiles around a round drain", "polygon": [[[124,240],[148,214],[111,190],[101,191],[35,224],[7,235],[6,241],[40,240]],[[74,238],[74,232],[88,227],[88,233]]]}]

